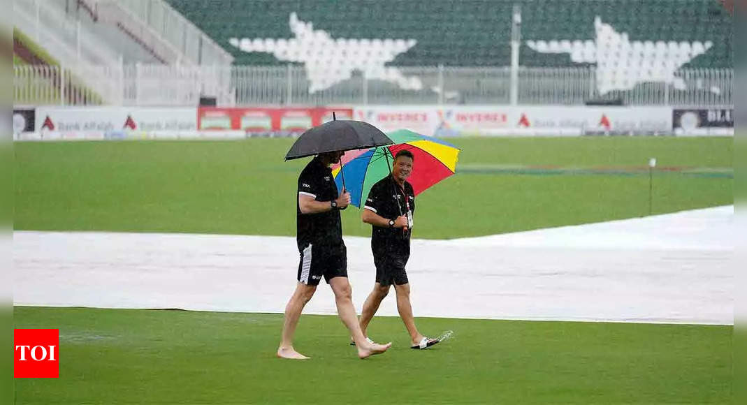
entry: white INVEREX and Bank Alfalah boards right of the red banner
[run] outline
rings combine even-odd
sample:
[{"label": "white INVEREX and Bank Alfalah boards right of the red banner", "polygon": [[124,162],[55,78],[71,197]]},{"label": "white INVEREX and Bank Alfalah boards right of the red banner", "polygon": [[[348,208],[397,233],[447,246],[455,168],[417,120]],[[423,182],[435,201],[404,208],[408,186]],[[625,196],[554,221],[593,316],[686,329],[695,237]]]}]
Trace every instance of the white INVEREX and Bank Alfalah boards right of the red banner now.
[{"label": "white INVEREX and Bank Alfalah boards right of the red banner", "polygon": [[586,132],[671,132],[671,107],[474,106],[359,107],[356,119],[382,131],[470,136]]}]

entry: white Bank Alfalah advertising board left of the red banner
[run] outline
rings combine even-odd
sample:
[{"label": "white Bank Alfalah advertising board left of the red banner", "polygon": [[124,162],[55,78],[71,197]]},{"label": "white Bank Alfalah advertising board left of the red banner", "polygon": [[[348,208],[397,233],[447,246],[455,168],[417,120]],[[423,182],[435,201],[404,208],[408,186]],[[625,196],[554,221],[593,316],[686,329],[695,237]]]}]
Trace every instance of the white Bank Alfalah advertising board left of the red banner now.
[{"label": "white Bank Alfalah advertising board left of the red banner", "polygon": [[193,107],[38,107],[35,130],[55,132],[195,131]]}]

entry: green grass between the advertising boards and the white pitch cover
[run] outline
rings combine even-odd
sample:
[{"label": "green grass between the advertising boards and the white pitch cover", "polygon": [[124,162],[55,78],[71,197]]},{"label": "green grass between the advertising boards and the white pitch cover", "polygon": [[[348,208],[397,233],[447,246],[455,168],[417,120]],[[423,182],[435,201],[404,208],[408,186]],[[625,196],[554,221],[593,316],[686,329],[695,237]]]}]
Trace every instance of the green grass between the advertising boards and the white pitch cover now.
[{"label": "green grass between the advertising boards and the white pitch cover", "polygon": [[[418,198],[414,236],[448,239],[733,204],[728,138],[450,139],[457,175]],[[292,139],[16,142],[16,230],[295,234]],[[415,162],[415,165],[418,163]],[[370,235],[355,207],[344,233]]]}]

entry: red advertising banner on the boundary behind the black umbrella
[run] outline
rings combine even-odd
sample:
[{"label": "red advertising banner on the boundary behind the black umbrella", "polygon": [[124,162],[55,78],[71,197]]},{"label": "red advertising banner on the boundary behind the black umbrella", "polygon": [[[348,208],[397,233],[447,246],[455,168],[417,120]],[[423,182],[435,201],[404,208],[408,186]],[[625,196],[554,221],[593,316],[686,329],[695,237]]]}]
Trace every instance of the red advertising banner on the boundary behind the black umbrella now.
[{"label": "red advertising banner on the boundary behind the black umbrella", "polygon": [[337,119],[353,119],[352,108],[199,107],[199,131],[246,131],[247,134],[294,135]]}]

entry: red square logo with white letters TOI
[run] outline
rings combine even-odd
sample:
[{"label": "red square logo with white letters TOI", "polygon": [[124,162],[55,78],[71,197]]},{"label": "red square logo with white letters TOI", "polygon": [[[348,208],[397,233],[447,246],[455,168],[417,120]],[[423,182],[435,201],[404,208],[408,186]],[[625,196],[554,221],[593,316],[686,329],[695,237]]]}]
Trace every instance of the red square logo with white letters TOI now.
[{"label": "red square logo with white letters TOI", "polygon": [[13,330],[13,377],[57,378],[60,330]]}]

